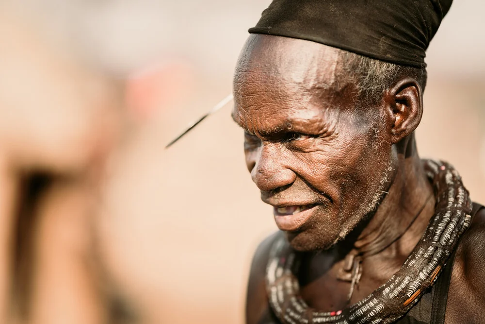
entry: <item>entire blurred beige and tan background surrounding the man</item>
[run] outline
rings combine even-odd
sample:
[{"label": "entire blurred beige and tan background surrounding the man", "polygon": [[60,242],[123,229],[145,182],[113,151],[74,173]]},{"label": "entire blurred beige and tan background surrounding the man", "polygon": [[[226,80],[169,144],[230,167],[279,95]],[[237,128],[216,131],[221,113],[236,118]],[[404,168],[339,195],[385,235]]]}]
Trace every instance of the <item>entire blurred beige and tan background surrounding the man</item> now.
[{"label": "entire blurred beige and tan background surrounding the man", "polygon": [[[244,321],[276,230],[230,104],[269,0],[0,0],[0,323]],[[485,2],[431,43],[422,157],[485,203]]]}]

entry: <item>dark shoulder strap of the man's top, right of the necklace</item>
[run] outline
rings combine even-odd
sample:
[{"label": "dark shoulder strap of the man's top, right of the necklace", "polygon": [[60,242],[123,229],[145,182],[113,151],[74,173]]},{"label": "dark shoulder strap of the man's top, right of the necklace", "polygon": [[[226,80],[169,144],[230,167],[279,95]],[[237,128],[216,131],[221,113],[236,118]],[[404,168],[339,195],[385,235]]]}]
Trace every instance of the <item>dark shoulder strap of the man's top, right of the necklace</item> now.
[{"label": "dark shoulder strap of the man's top, right of the necklace", "polygon": [[[473,209],[471,211],[471,219],[473,221],[475,215],[484,206],[480,204],[473,203]],[[445,323],[445,312],[446,312],[446,302],[448,301],[448,289],[450,288],[450,280],[452,278],[453,272],[453,262],[456,254],[456,249],[453,251],[448,263],[443,269],[443,273],[439,276],[435,291],[433,294],[433,305],[431,308],[431,322],[430,324],[444,324]]]}]

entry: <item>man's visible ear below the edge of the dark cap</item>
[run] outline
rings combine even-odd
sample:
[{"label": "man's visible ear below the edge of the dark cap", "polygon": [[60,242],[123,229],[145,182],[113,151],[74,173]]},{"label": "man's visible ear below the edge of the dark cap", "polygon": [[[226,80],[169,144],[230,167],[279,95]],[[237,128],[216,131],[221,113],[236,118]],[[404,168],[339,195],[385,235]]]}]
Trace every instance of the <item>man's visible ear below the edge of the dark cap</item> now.
[{"label": "man's visible ear below the edge of the dark cap", "polygon": [[423,114],[421,86],[413,78],[404,78],[388,89],[386,106],[392,144],[401,141],[418,127]]}]

